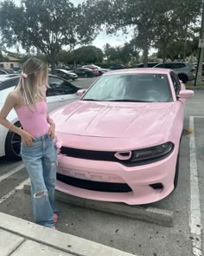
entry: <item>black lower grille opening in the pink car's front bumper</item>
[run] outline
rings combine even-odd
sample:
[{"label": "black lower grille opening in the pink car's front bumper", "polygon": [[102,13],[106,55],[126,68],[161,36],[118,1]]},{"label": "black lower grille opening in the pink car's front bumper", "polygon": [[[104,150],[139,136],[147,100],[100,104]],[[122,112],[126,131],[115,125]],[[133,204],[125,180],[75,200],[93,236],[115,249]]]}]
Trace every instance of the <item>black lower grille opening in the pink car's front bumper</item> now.
[{"label": "black lower grille opening in the pink car's front bumper", "polygon": [[86,181],[78,178],[70,177],[64,174],[57,174],[57,180],[73,187],[80,187],[92,191],[99,192],[115,192],[125,193],[131,192],[131,187],[126,183],[112,183],[112,182],[100,182],[100,181]]}]

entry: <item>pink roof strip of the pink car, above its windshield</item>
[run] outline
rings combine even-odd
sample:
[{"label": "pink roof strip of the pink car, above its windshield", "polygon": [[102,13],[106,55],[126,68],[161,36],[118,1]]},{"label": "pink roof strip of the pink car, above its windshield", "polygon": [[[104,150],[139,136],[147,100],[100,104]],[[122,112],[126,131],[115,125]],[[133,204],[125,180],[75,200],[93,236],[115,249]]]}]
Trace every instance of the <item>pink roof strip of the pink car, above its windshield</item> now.
[{"label": "pink roof strip of the pink car, above its windshield", "polygon": [[143,69],[119,69],[112,70],[104,75],[113,75],[113,74],[169,74],[171,69],[159,69],[159,68],[143,68]]}]

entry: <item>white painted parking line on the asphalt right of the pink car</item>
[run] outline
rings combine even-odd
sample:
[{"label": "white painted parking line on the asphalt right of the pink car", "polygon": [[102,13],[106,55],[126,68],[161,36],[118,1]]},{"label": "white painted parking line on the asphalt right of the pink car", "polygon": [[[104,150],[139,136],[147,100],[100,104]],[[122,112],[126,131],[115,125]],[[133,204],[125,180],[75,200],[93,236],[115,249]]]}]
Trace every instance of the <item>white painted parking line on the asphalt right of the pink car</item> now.
[{"label": "white painted parking line on the asphalt right of the pink car", "polygon": [[[194,117],[203,118],[203,116],[190,116],[189,128],[194,130]],[[201,246],[201,207],[198,181],[198,166],[196,158],[196,148],[194,134],[190,136],[190,232],[192,236],[194,256],[202,255]]]}]

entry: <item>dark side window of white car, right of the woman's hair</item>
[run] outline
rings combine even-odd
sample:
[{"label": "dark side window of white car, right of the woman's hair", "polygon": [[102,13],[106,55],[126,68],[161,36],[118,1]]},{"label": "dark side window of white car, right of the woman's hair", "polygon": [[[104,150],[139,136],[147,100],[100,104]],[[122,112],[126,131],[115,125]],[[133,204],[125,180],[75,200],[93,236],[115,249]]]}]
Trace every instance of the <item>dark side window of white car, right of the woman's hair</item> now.
[{"label": "dark side window of white car, right of the woman's hair", "polygon": [[47,89],[47,96],[70,95],[77,91],[72,83],[54,76],[49,76],[49,87]]}]

